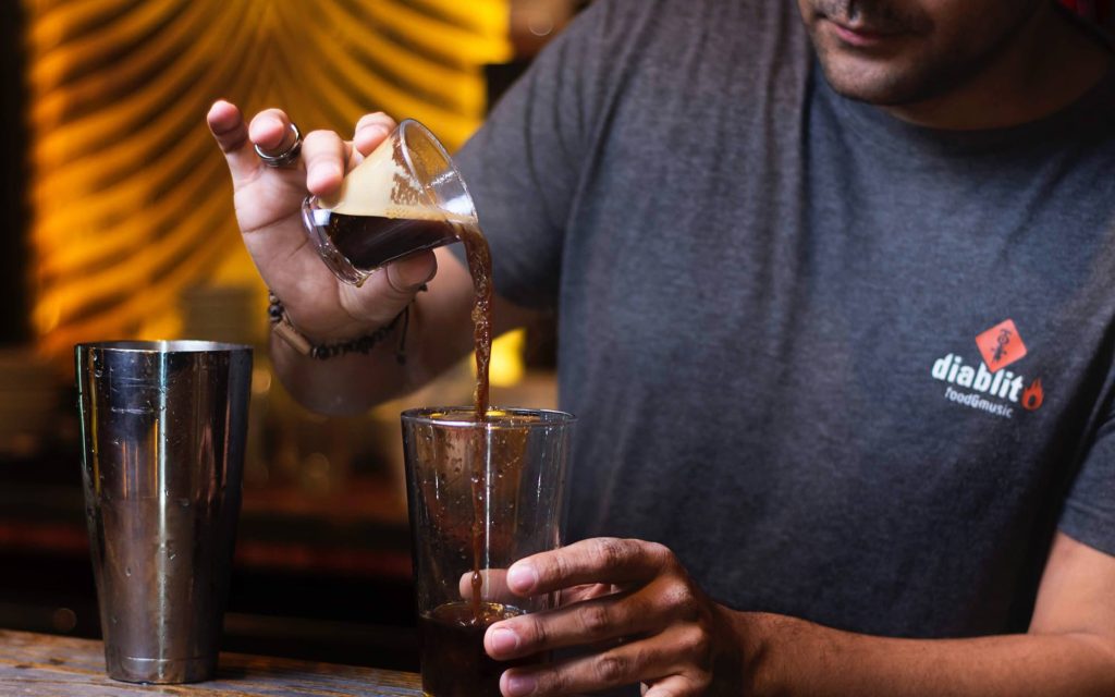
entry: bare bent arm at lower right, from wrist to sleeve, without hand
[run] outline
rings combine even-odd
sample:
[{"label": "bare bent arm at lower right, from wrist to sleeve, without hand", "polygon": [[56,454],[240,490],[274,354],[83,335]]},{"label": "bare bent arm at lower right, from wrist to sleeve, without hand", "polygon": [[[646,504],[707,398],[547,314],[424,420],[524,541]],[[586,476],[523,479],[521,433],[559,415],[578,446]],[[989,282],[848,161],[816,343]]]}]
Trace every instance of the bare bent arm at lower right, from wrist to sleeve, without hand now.
[{"label": "bare bent arm at lower right, from wrist to sleeve, without hand", "polygon": [[1029,633],[884,639],[743,614],[755,695],[1115,695],[1115,558],[1058,533]]}]

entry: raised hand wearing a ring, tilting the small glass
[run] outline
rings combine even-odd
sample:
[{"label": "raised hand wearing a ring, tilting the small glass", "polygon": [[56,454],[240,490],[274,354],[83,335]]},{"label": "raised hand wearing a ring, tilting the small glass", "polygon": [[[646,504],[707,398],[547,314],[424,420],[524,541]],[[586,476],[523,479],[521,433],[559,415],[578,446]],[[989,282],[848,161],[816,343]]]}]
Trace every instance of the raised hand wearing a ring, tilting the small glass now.
[{"label": "raised hand wearing a ring, tilting the small glass", "polygon": [[308,193],[334,192],[395,127],[385,114],[360,118],[351,141],[329,130],[304,134],[294,163],[270,167],[256,155],[285,152],[293,143],[290,118],[266,109],[245,124],[240,109],[216,101],[206,117],[232,174],[236,220],[252,260],[268,287],[283,301],[299,330],[317,341],[347,339],[387,325],[436,269],[433,252],[388,264],[360,288],[341,283],[322,263],[302,228]]}]

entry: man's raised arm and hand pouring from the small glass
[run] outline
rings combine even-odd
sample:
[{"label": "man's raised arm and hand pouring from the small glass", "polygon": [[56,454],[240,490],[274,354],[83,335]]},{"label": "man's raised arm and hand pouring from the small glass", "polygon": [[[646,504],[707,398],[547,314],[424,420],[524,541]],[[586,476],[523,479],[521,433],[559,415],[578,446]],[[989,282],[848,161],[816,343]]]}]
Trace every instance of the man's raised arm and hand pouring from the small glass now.
[{"label": "man's raised arm and hand pouring from the small glass", "polygon": [[[468,352],[472,280],[452,254],[444,249],[419,252],[387,264],[360,287],[349,285],[326,268],[302,228],[307,193],[334,192],[343,173],[395,127],[394,119],[363,116],[352,141],[327,130],[309,133],[301,157],[283,167],[265,166],[254,149],[282,152],[292,145],[290,118],[281,109],[261,112],[249,124],[235,105],[220,100],[206,120],[229,165],[244,246],[299,333],[311,343],[337,343],[388,326],[411,306],[408,321],[396,323],[367,356],[310,359],[273,335],[275,372],[299,401],[322,413],[361,412],[421,386]],[[429,291],[418,292],[427,281]],[[500,299],[493,304],[497,333],[530,316]],[[406,362],[400,366],[396,357],[404,340]]]}]

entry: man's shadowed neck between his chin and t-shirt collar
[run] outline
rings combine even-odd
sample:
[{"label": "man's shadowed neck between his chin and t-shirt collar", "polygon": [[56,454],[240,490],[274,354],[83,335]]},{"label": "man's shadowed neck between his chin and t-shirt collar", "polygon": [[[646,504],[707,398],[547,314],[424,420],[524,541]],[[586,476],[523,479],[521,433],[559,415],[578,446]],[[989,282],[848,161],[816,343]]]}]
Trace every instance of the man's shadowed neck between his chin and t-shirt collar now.
[{"label": "man's shadowed neck between his chin and t-shirt collar", "polygon": [[1025,124],[1079,98],[1115,65],[1113,52],[1053,3],[1035,12],[1015,41],[949,93],[881,107],[931,128],[975,130]]}]

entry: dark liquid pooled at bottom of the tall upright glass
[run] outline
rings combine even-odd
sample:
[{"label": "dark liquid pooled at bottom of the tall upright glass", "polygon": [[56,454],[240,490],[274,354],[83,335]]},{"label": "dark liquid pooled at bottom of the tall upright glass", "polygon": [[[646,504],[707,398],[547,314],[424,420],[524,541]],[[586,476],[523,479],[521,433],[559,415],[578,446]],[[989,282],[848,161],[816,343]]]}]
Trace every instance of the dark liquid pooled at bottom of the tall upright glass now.
[{"label": "dark liquid pooled at bottom of the tall upright glass", "polygon": [[421,632],[421,689],[432,697],[498,697],[500,675],[537,658],[496,661],[484,652],[488,626],[522,611],[495,602],[479,606],[479,621],[468,602],[449,602],[418,619]]}]

